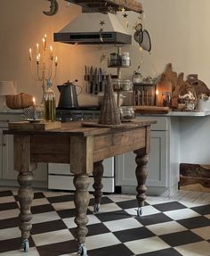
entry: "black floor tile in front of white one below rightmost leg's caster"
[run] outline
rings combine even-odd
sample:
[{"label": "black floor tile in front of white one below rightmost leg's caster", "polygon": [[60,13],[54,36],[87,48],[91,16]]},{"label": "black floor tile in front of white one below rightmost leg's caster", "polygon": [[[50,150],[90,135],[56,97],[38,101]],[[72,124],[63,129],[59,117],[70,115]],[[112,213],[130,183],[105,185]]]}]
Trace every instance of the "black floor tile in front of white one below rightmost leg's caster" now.
[{"label": "black floor tile in front of white one below rightmost leg's caster", "polygon": [[155,236],[155,234],[153,234],[147,227],[138,227],[127,229],[126,231],[117,231],[113,232],[113,234],[122,243]]}]

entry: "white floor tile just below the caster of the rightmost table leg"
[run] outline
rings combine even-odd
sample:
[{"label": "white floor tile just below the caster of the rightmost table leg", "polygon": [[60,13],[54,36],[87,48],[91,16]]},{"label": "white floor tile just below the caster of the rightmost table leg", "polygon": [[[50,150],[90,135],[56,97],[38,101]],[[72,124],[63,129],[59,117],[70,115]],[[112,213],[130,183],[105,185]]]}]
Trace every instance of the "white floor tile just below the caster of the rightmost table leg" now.
[{"label": "white floor tile just below the caster of the rightmost table leg", "polygon": [[103,224],[108,227],[111,232],[142,227],[141,223],[133,218],[112,220],[103,222]]}]

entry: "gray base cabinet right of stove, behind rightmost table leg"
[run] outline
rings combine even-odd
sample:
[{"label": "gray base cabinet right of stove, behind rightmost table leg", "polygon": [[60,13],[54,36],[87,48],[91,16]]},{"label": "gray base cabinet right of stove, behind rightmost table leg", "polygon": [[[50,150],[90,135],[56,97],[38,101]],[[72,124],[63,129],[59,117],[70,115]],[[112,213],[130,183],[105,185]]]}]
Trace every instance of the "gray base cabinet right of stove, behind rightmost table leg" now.
[{"label": "gray base cabinet right of stove, behind rightmost table leg", "polygon": [[[177,189],[179,179],[179,122],[176,118],[170,117],[138,116],[137,118],[157,120],[157,124],[151,126],[146,182],[148,193],[172,193],[172,189]],[[135,192],[137,184],[134,158],[134,153],[125,153],[116,157],[116,183],[117,186],[121,186],[123,193]]]}]

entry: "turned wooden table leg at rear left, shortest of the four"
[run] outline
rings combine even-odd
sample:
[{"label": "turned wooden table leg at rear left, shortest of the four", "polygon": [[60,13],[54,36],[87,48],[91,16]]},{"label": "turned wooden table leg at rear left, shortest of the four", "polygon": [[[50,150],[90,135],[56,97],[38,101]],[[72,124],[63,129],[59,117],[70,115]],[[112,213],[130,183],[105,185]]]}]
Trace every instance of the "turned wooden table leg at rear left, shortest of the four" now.
[{"label": "turned wooden table leg at rear left, shortest of the four", "polygon": [[103,188],[102,185],[102,176],[103,176],[103,165],[102,161],[96,161],[93,164],[93,178],[94,178],[94,183],[93,183],[93,188],[94,188],[94,198],[95,198],[95,204],[93,206],[94,212],[98,212],[100,209],[100,203],[101,203],[101,196],[102,196],[102,191],[101,189]]}]

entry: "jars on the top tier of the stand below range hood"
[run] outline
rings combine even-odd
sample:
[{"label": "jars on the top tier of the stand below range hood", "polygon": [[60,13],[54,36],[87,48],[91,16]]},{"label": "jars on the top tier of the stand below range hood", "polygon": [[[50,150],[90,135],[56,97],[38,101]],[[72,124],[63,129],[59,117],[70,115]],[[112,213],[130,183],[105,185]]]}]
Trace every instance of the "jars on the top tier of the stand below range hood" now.
[{"label": "jars on the top tier of the stand below range hood", "polygon": [[109,60],[109,66],[111,67],[129,67],[131,65],[131,59],[129,56],[129,53],[123,53],[117,54],[117,53],[112,53],[110,54],[110,60]]}]

